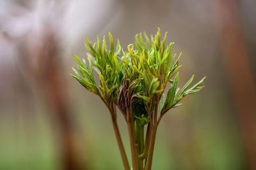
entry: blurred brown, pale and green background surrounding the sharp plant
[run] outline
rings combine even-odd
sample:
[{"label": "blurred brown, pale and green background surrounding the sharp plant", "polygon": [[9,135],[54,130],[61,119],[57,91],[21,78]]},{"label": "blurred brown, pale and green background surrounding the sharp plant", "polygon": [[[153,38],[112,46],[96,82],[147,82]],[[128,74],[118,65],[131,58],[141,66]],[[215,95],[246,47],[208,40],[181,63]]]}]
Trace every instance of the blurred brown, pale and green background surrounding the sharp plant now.
[{"label": "blurred brown, pale and green background surrounding the sharp plant", "polygon": [[[168,31],[179,86],[205,88],[160,124],[152,169],[256,169],[256,1],[0,0],[0,169],[123,169],[111,118],[70,76],[84,36]],[[126,152],[124,119],[118,124]],[[131,159],[130,159],[131,160]]]}]

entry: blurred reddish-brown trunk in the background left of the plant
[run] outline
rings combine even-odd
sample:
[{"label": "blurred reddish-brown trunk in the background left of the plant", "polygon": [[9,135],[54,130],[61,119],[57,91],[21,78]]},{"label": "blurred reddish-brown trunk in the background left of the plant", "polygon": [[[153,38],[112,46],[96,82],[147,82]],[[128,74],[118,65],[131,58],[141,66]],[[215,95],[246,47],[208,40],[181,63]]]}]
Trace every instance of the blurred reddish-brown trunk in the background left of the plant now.
[{"label": "blurred reddish-brown trunk in the background left of the plant", "polygon": [[82,160],[79,157],[79,145],[77,141],[76,131],[72,124],[72,115],[67,101],[67,84],[65,83],[65,75],[61,70],[61,57],[58,49],[58,43],[54,39],[54,35],[46,35],[45,49],[48,52],[41,57],[48,57],[45,66],[45,88],[47,91],[47,100],[49,106],[54,113],[55,122],[59,126],[62,161],[64,169],[79,170],[82,168]]}]

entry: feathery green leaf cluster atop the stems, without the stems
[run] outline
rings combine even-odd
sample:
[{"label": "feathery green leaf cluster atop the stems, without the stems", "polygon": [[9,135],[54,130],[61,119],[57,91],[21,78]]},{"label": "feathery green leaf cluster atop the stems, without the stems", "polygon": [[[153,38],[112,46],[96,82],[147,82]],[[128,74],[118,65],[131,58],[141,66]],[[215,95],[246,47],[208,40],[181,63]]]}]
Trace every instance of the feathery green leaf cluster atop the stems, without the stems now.
[{"label": "feathery green leaf cluster atop the stems, without the stems", "polygon": [[[74,55],[77,68],[73,68],[76,78],[84,88],[99,96],[108,106],[116,104],[126,120],[136,118],[139,121],[153,121],[152,113],[159,107],[163,115],[171,108],[180,105],[179,101],[189,94],[194,94],[204,87],[204,79],[190,89],[194,75],[179,89],[178,69],[180,55],[172,55],[174,43],[166,45],[167,32],[161,39],[158,29],[155,36],[148,38],[147,34],[136,34],[135,45],[127,46],[127,52],[117,41],[114,50],[113,36],[109,33],[109,49],[106,38],[98,37],[92,44],[88,38],[84,43],[88,52],[88,64]],[[93,70],[99,75],[100,84],[95,83]],[[166,85],[170,83],[168,93],[164,95]]]}]

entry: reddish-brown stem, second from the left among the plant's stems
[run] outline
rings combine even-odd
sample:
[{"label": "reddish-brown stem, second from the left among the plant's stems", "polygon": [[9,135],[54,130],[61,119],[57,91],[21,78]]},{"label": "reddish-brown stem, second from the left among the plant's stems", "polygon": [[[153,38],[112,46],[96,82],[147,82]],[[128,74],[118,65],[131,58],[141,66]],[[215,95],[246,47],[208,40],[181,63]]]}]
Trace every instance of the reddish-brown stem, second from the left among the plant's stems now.
[{"label": "reddish-brown stem, second from the left among the plant's stems", "polygon": [[[129,114],[129,113],[127,113],[127,114]],[[130,144],[131,144],[132,170],[138,170],[138,155],[136,153],[136,146],[135,146],[134,132],[133,132],[131,118],[129,118],[129,120],[127,120],[127,126],[128,126],[129,139],[130,139]]]}]

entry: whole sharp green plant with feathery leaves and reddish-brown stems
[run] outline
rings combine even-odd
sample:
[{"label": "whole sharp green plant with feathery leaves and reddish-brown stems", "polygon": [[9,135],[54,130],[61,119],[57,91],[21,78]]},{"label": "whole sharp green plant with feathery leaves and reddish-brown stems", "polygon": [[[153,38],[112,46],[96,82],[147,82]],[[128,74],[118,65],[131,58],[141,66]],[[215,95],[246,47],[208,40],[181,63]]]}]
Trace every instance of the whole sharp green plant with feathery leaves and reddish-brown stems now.
[{"label": "whole sharp green plant with feathery leaves and reddish-brown stems", "polygon": [[[124,52],[119,41],[114,50],[113,37],[109,33],[109,50],[105,36],[102,44],[98,37],[97,43],[93,45],[86,38],[84,45],[90,52],[88,64],[74,55],[81,75],[73,68],[75,75],[72,76],[87,90],[99,96],[108,107],[126,170],[130,167],[116,122],[116,106],[127,123],[132,169],[148,170],[152,166],[156,132],[161,118],[168,110],[180,106],[179,102],[183,97],[194,94],[203,87],[205,78],[188,89],[193,75],[182,89],[177,88],[180,55],[172,56],[173,43],[166,47],[166,35],[167,33],[161,41],[160,29],[151,39],[145,32],[144,38],[141,33],[137,34],[136,48],[131,44],[127,47],[128,52]],[[93,70],[99,75],[100,85],[95,82]],[[171,86],[164,96],[168,83]],[[145,128],[147,132],[144,132]]]}]

